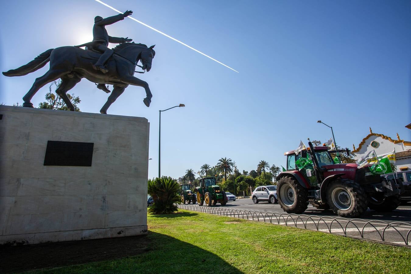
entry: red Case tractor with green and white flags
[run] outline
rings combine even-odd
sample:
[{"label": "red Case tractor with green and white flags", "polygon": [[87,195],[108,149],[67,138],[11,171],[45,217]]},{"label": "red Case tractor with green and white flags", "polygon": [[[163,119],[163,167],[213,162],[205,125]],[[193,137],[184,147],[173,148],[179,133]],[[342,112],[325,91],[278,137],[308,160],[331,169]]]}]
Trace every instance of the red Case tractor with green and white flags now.
[{"label": "red Case tractor with green and white flags", "polygon": [[339,216],[358,217],[368,207],[391,211],[400,204],[401,182],[374,175],[369,166],[335,164],[329,147],[308,145],[297,155],[294,151],[284,153],[287,170],[277,176],[277,198],[287,213],[300,214],[311,203],[319,209],[330,208]]}]

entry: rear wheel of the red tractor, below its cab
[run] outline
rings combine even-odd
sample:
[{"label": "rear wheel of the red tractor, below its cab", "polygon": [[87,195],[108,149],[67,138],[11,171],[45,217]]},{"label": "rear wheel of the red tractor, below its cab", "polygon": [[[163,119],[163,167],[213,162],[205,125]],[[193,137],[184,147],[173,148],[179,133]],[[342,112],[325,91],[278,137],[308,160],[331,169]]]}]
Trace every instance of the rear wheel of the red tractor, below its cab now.
[{"label": "rear wheel of the red tractor, below its cab", "polygon": [[292,177],[282,177],[277,184],[277,199],[287,213],[301,214],[308,207],[308,190]]}]

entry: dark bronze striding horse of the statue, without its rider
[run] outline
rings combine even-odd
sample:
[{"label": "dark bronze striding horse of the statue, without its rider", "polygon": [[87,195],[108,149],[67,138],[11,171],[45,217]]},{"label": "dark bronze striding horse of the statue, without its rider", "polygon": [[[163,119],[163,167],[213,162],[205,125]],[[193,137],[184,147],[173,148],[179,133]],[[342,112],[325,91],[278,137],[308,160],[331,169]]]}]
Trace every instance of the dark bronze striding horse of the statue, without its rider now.
[{"label": "dark bronze striding horse of the statue, without its rider", "polygon": [[147,97],[143,99],[146,106],[150,106],[152,94],[148,83],[134,77],[137,62],[141,60],[143,70],[150,71],[152,58],[154,58],[154,46],[147,47],[144,44],[123,43],[114,48],[113,57],[107,62],[109,72],[104,74],[93,69],[100,57],[100,53],[84,50],[76,46],[63,46],[51,48],[37,56],[34,60],[19,67],[3,72],[5,76],[23,76],[44,67],[50,61],[50,69],[43,76],[36,79],[33,86],[23,97],[25,107],[33,107],[30,102],[34,94],[52,81],[61,78],[62,82],[56,93],[61,96],[70,111],[74,111],[72,102],[67,97],[67,91],[71,90],[82,78],[93,83],[105,83],[113,85],[113,92],[107,99],[100,113],[107,114],[107,109],[124,92],[128,85],[144,87]]}]

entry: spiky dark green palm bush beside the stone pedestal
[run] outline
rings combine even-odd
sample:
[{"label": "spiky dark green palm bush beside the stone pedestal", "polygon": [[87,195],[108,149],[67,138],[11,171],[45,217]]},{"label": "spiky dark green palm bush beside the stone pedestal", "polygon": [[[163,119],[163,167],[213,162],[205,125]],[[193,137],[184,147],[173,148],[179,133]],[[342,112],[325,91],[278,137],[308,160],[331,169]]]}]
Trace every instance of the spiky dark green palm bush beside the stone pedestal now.
[{"label": "spiky dark green palm bush beside the stone pedestal", "polygon": [[148,212],[154,214],[169,214],[177,211],[180,203],[180,185],[177,180],[163,176],[148,181],[148,194],[153,198],[154,203]]}]

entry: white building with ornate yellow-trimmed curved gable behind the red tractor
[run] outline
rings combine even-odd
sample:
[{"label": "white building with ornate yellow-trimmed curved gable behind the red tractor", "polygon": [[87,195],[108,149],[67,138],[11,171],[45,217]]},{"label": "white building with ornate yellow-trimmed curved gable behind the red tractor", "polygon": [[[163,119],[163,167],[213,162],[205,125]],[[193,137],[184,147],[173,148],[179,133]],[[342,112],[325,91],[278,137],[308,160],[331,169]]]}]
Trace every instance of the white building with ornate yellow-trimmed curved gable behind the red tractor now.
[{"label": "white building with ornate yellow-trimmed curved gable behind the red tractor", "polygon": [[[405,126],[411,129],[411,124]],[[395,158],[397,163],[397,171],[411,170],[411,142],[404,141],[399,138],[397,133],[397,140],[383,135],[372,132],[369,128],[370,134],[368,134],[358,145],[358,148],[353,144],[353,153],[356,154],[355,159],[358,160],[371,150],[375,150],[377,155],[392,152],[395,148]]]}]

